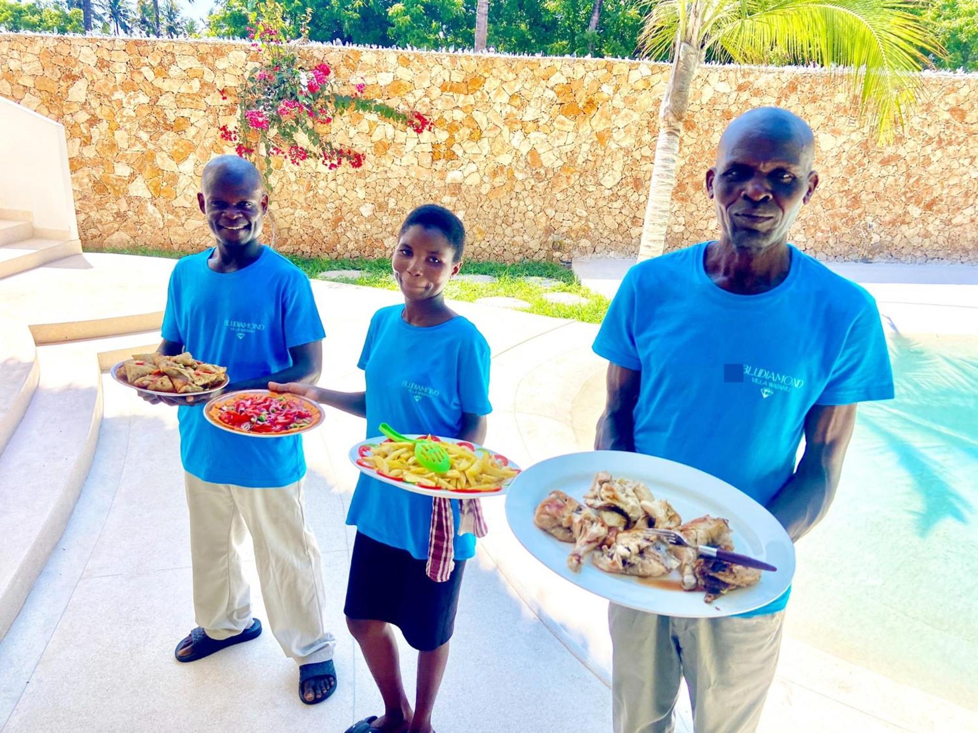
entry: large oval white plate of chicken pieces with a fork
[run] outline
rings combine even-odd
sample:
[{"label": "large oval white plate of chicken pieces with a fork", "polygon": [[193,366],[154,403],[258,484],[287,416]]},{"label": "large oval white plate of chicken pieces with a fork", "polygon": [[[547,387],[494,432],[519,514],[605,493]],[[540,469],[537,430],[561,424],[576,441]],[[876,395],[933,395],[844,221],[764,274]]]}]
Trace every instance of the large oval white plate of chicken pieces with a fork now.
[{"label": "large oval white plate of chicken pieces with a fork", "polygon": [[[541,461],[513,479],[506,514],[516,538],[558,575],[649,613],[746,613],[776,599],[794,575],[794,545],[767,509],[715,476],[652,455]],[[733,551],[768,569],[728,561]]]}]

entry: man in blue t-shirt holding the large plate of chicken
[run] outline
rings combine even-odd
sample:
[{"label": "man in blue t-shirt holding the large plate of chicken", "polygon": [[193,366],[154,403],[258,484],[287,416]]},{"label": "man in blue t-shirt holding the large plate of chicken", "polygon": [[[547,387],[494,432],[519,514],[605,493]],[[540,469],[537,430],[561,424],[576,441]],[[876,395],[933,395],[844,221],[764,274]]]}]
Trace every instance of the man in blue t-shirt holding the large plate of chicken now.
[{"label": "man in blue t-shirt holding the large plate of chicken", "polygon": [[[814,151],[809,126],[784,109],[734,119],[706,173],[720,239],[632,268],[594,344],[610,362],[596,448],[718,476],[793,540],[828,510],[856,403],[893,397],[872,298],[787,243],[819,184]],[[683,677],[697,733],[755,730],[787,596],[721,619],[612,604],[615,733],[672,731]]]}]

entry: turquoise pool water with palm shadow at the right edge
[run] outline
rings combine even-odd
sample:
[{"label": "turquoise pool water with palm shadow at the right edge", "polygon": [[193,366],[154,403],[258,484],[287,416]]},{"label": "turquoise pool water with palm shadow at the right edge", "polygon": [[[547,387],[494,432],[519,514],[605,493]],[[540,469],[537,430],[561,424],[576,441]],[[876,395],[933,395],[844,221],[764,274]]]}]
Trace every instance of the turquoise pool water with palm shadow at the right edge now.
[{"label": "turquoise pool water with palm shadow at the right edge", "polygon": [[978,339],[890,338],[828,516],[798,544],[787,630],[978,710]]}]

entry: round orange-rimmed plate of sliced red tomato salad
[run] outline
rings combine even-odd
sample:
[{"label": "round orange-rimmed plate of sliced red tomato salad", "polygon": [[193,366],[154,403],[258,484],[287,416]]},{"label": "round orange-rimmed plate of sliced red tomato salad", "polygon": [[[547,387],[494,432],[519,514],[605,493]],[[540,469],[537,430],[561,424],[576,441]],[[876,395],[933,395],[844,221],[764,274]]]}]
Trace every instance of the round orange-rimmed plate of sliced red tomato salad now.
[{"label": "round orange-rimmed plate of sliced red tomato salad", "polygon": [[207,421],[216,428],[249,438],[283,438],[318,427],[323,409],[298,395],[242,390],[215,397],[204,408]]}]

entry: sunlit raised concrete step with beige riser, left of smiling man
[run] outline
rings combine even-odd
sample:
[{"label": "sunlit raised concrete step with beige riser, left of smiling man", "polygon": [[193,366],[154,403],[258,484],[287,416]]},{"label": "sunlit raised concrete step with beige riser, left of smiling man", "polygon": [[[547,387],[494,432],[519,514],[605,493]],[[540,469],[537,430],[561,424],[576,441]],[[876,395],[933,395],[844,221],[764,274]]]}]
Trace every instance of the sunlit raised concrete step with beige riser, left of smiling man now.
[{"label": "sunlit raised concrete step with beige riser, left of smiling man", "polygon": [[0,280],[0,318],[30,325],[38,344],[156,330],[175,262],[115,254],[65,257]]}]

